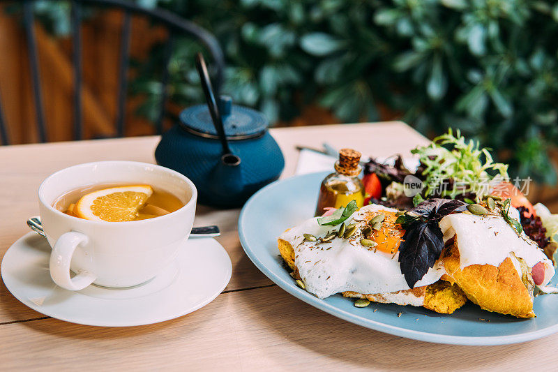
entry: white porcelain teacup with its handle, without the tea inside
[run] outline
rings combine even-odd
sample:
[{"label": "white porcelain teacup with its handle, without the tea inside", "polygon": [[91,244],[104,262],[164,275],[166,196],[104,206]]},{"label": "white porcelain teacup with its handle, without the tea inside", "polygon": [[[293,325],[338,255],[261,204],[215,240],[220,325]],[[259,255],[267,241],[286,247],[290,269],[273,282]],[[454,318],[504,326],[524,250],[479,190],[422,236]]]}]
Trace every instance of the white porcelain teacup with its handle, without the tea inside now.
[{"label": "white porcelain teacup with its handle, without the tea inside", "polygon": [[[165,216],[130,222],[89,221],[53,207],[61,195],[94,184],[150,184],[186,203]],[[39,187],[40,221],[52,253],[50,276],[67,290],[91,283],[126,288],[149,281],[176,257],[194,222],[197,191],[190,179],[159,165],[100,161],[75,165]],[[70,277],[70,270],[75,276]]]}]

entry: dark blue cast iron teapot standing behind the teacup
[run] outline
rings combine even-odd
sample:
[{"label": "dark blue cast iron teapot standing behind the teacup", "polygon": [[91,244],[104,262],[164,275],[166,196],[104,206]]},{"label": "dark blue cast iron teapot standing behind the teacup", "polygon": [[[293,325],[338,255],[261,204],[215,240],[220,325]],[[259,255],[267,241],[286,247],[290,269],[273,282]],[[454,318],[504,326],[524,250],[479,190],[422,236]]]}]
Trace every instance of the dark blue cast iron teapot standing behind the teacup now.
[{"label": "dark blue cast iron teapot standing behind the teacup", "polygon": [[181,112],[179,124],[163,134],[155,158],[191,179],[200,203],[240,207],[279,178],[285,159],[264,115],[233,105],[227,96],[220,96],[217,105],[202,54],[196,67],[207,105]]}]

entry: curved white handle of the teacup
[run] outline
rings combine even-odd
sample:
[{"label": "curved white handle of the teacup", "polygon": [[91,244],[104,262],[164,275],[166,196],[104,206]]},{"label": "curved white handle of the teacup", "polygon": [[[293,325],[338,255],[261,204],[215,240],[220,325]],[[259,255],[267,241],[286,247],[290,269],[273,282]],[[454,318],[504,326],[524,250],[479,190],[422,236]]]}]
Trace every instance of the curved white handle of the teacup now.
[{"label": "curved white handle of the teacup", "polygon": [[95,281],[97,276],[89,271],[80,271],[70,278],[70,262],[75,248],[87,241],[89,237],[77,231],[65,232],[56,240],[50,253],[50,277],[54,283],[67,290],[82,290]]}]

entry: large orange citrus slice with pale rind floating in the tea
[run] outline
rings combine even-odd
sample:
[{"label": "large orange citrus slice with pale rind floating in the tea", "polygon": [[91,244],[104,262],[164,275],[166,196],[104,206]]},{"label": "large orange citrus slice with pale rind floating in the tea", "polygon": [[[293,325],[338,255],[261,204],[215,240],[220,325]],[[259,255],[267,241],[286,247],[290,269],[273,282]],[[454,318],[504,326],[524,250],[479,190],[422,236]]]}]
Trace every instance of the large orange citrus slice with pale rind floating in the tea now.
[{"label": "large orange citrus slice with pale rind floating in the tea", "polygon": [[149,185],[103,188],[82,196],[75,204],[75,216],[93,221],[133,221],[153,194]]}]

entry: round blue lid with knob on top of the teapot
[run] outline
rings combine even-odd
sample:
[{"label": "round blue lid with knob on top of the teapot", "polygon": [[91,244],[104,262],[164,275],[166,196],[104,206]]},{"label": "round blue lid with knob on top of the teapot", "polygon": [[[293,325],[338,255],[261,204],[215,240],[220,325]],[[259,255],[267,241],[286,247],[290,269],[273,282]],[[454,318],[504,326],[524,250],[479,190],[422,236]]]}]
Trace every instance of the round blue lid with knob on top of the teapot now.
[{"label": "round blue lid with knob on top of the teapot", "polygon": [[[227,139],[246,140],[265,133],[269,122],[261,112],[233,105],[232,98],[229,96],[220,96],[218,105]],[[179,119],[181,127],[190,133],[207,138],[219,138],[207,105],[188,107],[182,110]]]}]

